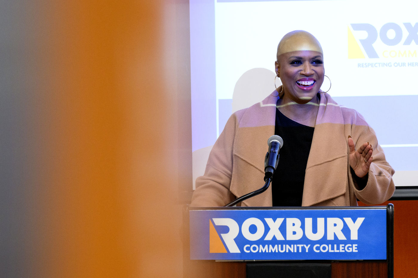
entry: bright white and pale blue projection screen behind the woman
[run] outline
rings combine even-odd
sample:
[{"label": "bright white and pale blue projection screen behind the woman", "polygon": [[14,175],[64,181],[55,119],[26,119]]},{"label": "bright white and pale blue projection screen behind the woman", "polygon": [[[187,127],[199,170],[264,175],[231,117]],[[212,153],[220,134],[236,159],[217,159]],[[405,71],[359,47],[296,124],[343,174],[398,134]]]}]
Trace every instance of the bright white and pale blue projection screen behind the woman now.
[{"label": "bright white and pale blue projection screen behind the woman", "polygon": [[395,185],[418,185],[417,9],[414,0],[190,0],[193,180],[229,116],[274,90],[280,38],[306,30],[324,50],[329,94],[375,130]]}]

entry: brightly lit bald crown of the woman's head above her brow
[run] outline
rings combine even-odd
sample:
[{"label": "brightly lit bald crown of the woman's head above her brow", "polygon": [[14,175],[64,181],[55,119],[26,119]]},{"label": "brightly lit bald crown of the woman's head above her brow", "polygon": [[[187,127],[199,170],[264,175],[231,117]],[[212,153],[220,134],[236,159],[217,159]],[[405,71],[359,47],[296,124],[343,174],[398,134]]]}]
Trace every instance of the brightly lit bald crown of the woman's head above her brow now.
[{"label": "brightly lit bald crown of the woman's head above her brow", "polygon": [[295,30],[287,33],[280,40],[277,46],[277,59],[283,53],[304,50],[323,53],[321,44],[314,35],[303,30]]}]

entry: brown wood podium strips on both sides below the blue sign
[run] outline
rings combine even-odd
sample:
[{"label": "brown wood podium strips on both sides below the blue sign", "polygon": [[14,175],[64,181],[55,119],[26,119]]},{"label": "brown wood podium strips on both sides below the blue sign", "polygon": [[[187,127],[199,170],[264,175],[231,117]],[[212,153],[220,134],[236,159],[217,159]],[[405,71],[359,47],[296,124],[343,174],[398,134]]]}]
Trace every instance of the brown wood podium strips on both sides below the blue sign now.
[{"label": "brown wood podium strips on both sides below the blue sign", "polygon": [[[190,260],[189,278],[245,278],[244,262],[215,262],[214,260]],[[187,275],[185,275],[187,277]],[[332,278],[387,278],[385,262],[333,262]]]}]

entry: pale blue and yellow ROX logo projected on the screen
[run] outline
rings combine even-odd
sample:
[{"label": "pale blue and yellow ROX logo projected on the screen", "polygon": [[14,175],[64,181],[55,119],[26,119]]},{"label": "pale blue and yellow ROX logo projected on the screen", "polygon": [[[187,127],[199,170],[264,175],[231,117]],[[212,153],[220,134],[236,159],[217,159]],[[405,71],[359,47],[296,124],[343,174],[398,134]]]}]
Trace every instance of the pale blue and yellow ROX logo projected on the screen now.
[{"label": "pale blue and yellow ROX logo projected on the screen", "polygon": [[[354,36],[350,26],[348,26],[349,59],[417,57],[416,49],[413,49],[411,43],[414,41],[415,45],[418,44],[418,23],[415,23],[414,25],[411,23],[403,23],[407,35],[404,34],[401,26],[396,23],[384,24],[380,28],[379,33],[377,33],[377,28],[369,23],[350,25],[353,31],[365,31],[367,37],[364,39],[362,38],[364,37],[364,32],[354,33],[358,38],[362,38],[358,39],[362,45],[362,49],[359,43],[357,43],[356,36]],[[376,43],[377,37],[380,38],[380,42]]]}]

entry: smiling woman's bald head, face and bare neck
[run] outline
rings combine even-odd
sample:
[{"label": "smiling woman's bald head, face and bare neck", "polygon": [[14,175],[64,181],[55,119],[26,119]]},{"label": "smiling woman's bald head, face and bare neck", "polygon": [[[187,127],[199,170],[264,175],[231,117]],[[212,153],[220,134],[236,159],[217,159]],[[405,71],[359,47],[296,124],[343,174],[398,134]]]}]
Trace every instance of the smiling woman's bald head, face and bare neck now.
[{"label": "smiling woman's bald head, face and bare neck", "polygon": [[[319,41],[304,31],[286,34],[277,47],[275,71],[283,84],[278,109],[306,126],[315,126],[318,113],[319,96],[316,95],[325,74],[322,52]],[[307,103],[313,105],[297,105]]]}]

